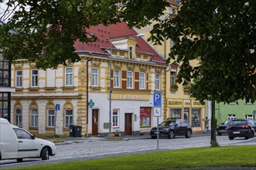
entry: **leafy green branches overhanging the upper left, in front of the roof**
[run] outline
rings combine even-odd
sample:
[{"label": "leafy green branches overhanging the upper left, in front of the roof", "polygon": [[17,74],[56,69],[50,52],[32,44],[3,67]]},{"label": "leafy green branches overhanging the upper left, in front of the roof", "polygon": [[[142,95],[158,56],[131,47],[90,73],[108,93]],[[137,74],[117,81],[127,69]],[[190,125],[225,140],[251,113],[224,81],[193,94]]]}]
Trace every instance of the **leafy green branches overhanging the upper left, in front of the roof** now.
[{"label": "leafy green branches overhanging the upper left, in front of the roof", "polygon": [[[164,0],[0,0],[0,49],[5,59],[28,59],[41,69],[74,63],[74,41],[92,42],[91,26],[125,20],[129,26],[147,26],[157,20]],[[139,9],[139,10],[138,10]]]}]

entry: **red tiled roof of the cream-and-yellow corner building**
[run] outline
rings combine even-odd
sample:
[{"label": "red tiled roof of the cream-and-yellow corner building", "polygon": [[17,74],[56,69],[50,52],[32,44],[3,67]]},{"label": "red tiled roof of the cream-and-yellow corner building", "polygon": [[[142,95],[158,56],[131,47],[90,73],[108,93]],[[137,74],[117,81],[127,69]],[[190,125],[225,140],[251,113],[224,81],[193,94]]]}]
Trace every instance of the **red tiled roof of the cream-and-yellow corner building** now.
[{"label": "red tiled roof of the cream-and-yellow corner building", "polygon": [[[130,29],[126,22],[120,22],[110,26],[93,26],[90,29],[86,29],[88,34],[94,34],[98,40],[96,42],[74,42],[74,48],[76,51],[88,51],[92,53],[106,53],[104,49],[110,48],[110,42],[107,39],[115,39],[125,36],[136,36],[138,33],[134,29]],[[137,52],[152,53],[154,57],[152,61],[165,63],[165,60],[152,49],[152,47],[142,38],[136,37],[137,41]],[[115,46],[112,46],[115,48]],[[107,54],[107,53],[106,53]],[[106,56],[108,57],[108,56]]]}]

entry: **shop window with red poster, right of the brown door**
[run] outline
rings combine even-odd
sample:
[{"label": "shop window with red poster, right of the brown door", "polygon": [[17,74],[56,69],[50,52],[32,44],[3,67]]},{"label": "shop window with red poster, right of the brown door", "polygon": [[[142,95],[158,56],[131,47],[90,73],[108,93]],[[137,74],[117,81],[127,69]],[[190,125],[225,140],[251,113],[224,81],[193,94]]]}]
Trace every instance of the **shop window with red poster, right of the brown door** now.
[{"label": "shop window with red poster, right of the brown door", "polygon": [[150,127],[150,107],[140,107],[140,128]]}]

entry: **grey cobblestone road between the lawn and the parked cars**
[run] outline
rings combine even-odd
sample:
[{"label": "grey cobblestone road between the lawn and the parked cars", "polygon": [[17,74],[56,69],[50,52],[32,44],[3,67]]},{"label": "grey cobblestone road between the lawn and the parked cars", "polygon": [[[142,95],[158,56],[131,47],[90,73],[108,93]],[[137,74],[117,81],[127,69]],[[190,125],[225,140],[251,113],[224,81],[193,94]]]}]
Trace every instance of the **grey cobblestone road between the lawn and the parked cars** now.
[{"label": "grey cobblestone road between the lawn and the parked cars", "polygon": [[[221,146],[256,145],[256,138],[249,140],[235,138],[232,141],[228,139],[227,135],[217,136],[216,138]],[[210,146],[209,135],[195,135],[192,138],[185,138],[183,136],[176,137],[175,139],[160,138],[159,149],[157,149],[157,139],[150,139],[149,136],[124,138],[123,140],[109,140],[106,138],[66,138],[64,140],[64,143],[57,144],[57,155],[50,157],[49,161],[42,162],[40,159],[24,159],[24,162],[17,163],[16,160],[5,160],[0,161],[0,169]]]}]

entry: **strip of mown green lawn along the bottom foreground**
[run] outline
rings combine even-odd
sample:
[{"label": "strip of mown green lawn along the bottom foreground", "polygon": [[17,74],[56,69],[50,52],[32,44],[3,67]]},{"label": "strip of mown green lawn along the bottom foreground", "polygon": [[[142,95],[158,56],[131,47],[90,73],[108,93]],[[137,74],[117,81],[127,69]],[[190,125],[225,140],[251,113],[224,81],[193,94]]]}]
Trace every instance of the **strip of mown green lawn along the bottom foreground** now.
[{"label": "strip of mown green lawn along the bottom foreground", "polygon": [[[175,151],[126,155],[82,162],[29,166],[29,169],[197,169],[218,167],[255,167],[255,145],[218,148],[188,148]],[[16,169],[28,169],[16,168]]]}]

